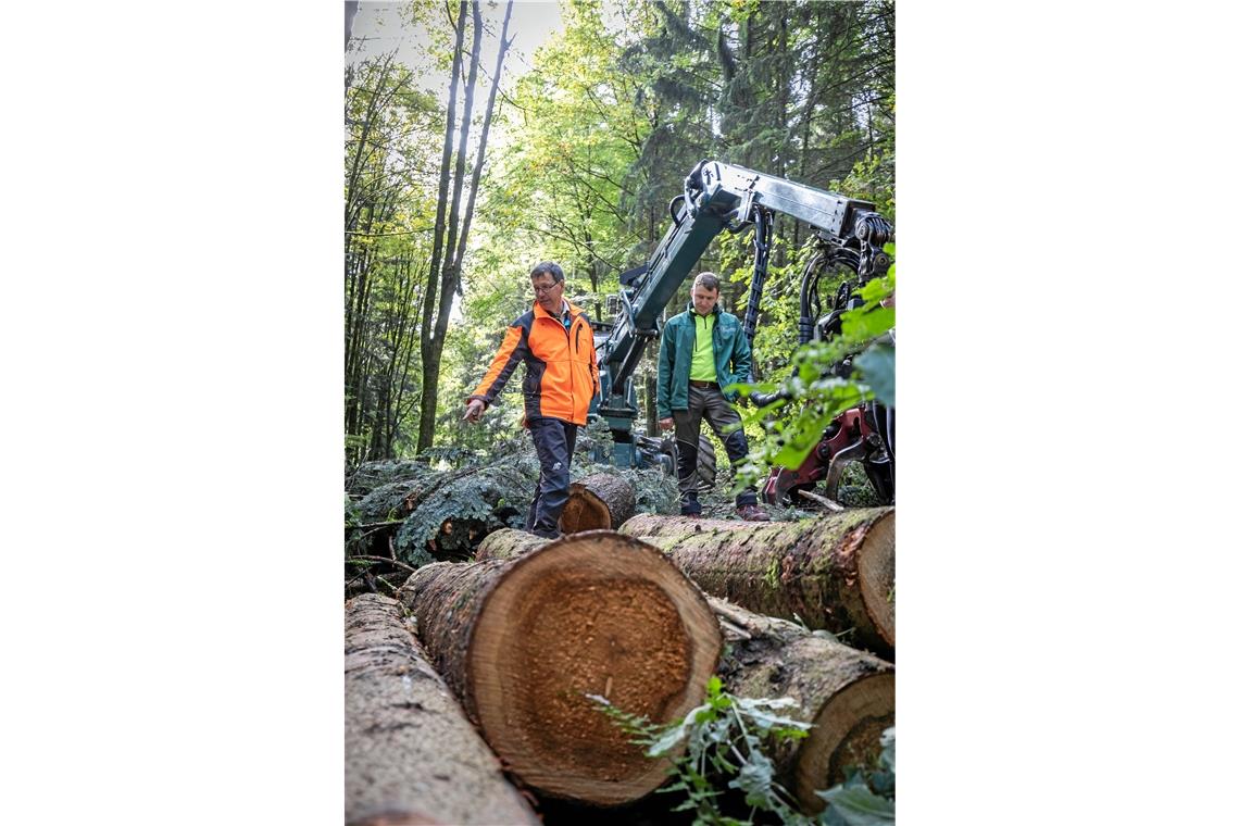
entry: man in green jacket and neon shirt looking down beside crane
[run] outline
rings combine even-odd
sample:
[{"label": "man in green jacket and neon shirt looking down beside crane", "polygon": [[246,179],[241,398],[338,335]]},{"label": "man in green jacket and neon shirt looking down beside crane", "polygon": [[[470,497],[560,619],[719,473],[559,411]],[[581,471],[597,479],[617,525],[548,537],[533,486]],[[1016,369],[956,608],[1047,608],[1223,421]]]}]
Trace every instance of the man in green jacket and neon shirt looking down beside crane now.
[{"label": "man in green jacket and neon shirt looking down beside crane", "polygon": [[[747,381],[752,364],[748,338],[740,320],[719,307],[719,276],[703,272],[693,281],[693,302],[663,328],[658,347],[658,425],[675,427],[680,483],[680,515],[701,515],[696,490],[698,438],[705,417],[727,448],[732,467],[748,456],[740,414],[722,388]],[[733,395],[731,398],[735,398]],[[724,432],[729,425],[735,430]],[[768,521],[753,488],[736,497],[741,519]]]}]

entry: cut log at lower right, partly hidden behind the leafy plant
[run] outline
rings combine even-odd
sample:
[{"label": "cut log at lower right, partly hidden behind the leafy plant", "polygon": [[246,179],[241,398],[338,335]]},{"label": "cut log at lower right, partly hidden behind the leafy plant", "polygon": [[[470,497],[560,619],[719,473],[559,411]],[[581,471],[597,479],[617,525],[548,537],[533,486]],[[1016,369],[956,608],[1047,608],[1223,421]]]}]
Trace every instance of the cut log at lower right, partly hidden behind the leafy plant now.
[{"label": "cut log at lower right, partly hidden behind the leafy plant", "polygon": [[814,794],[844,781],[844,769],[873,765],[882,732],[895,724],[895,666],[786,619],[762,617],[710,597],[729,624],[719,666],[727,690],[741,697],[792,697],[789,716],[813,723],[809,736],[774,746],[771,759],[800,806],[825,806]]}]

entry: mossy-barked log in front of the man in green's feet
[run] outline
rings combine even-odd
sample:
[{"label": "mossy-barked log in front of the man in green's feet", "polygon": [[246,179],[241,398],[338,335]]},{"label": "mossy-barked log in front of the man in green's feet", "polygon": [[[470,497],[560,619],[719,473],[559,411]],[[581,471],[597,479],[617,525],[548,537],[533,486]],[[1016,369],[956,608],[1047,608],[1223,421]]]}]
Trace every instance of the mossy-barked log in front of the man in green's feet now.
[{"label": "mossy-barked log in front of the man in green's feet", "polygon": [[715,597],[893,654],[893,508],[786,523],[637,514],[621,533],[662,547]]}]

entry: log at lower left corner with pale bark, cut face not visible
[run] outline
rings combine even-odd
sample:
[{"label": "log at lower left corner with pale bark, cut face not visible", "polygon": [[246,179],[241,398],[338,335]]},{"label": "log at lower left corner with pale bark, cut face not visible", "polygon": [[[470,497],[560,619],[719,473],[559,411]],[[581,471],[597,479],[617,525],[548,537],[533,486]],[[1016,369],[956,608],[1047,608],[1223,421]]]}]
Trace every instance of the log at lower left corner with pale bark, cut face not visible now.
[{"label": "log at lower left corner with pale bark, cut face not visible", "polygon": [[344,820],[540,822],[378,594],[344,606]]}]

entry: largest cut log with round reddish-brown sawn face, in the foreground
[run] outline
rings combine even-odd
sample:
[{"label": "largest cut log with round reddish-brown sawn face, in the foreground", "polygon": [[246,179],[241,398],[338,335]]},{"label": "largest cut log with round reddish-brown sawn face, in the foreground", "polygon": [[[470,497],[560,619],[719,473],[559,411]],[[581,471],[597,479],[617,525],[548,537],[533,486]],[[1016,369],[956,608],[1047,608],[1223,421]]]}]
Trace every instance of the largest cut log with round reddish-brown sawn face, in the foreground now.
[{"label": "largest cut log with round reddish-brown sawn face, in the foreground", "polygon": [[644,757],[586,695],[659,723],[681,718],[704,700],[722,644],[700,591],[657,549],[613,531],[518,559],[435,562],[399,598],[507,768],[548,795],[602,806],[654,790],[669,760]]}]

